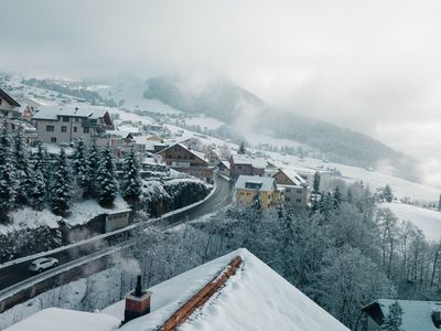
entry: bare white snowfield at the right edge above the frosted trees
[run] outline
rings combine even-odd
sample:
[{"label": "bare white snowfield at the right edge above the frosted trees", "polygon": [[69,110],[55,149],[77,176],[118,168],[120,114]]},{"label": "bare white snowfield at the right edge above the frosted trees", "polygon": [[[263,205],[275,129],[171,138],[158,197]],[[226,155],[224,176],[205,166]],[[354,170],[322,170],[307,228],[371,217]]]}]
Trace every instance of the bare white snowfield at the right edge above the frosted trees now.
[{"label": "bare white snowfield at the right edge above the frosted trees", "polygon": [[381,203],[401,221],[409,221],[424,233],[429,241],[441,239],[441,212],[404,203]]}]

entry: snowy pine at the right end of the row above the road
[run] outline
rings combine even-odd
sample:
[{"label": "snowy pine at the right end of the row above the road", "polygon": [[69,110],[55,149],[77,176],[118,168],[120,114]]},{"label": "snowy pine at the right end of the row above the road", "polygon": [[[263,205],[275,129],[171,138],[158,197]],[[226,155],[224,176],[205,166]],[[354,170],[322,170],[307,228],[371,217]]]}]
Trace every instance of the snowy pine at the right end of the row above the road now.
[{"label": "snowy pine at the right end of the row above the road", "polygon": [[122,171],[125,174],[121,183],[122,197],[128,203],[135,204],[141,195],[141,179],[139,177],[139,164],[133,147],[123,161]]}]

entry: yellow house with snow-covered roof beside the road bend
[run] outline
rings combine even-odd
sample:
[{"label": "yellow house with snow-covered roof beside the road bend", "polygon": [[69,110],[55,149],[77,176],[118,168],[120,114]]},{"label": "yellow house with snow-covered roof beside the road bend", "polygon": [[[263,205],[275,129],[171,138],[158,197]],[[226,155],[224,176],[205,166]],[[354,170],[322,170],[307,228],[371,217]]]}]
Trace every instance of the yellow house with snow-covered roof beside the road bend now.
[{"label": "yellow house with snow-covered roof beside the road bend", "polygon": [[276,180],[271,177],[239,175],[235,184],[236,202],[241,205],[252,205],[260,195],[263,207],[283,202],[283,192],[278,189]]}]

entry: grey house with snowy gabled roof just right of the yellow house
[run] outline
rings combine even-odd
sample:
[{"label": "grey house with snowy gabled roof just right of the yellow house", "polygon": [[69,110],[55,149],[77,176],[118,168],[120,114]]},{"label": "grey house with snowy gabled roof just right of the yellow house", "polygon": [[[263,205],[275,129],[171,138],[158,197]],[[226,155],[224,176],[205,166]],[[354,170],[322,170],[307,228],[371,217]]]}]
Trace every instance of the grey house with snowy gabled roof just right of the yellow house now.
[{"label": "grey house with snowy gabled roof just right of the yellow house", "polygon": [[306,181],[294,170],[279,170],[273,178],[277,184],[284,189],[284,203],[292,207],[308,207],[310,204],[311,189]]}]

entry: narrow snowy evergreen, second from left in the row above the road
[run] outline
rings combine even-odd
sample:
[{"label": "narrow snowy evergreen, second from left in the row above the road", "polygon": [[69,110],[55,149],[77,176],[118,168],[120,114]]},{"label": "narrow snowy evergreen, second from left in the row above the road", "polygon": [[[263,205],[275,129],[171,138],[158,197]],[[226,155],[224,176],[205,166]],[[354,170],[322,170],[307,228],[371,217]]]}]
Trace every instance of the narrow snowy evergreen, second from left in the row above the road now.
[{"label": "narrow snowy evergreen, second from left in the row above the road", "polygon": [[29,152],[23,141],[23,129],[21,126],[19,126],[14,136],[14,161],[18,181],[17,202],[24,204],[28,201],[28,191],[30,189],[30,166]]}]

